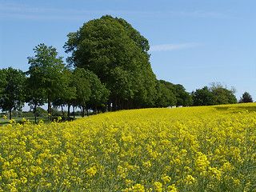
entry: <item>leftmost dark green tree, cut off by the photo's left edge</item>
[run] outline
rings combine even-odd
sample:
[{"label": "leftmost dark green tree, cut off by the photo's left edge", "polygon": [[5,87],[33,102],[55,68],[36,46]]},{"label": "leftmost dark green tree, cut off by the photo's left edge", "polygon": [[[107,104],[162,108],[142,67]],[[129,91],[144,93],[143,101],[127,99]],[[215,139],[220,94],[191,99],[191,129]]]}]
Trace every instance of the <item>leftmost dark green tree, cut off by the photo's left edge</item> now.
[{"label": "leftmost dark green tree, cut off by the photo's left edge", "polygon": [[2,69],[1,75],[1,102],[0,108],[9,111],[12,119],[12,110],[20,110],[24,106],[24,86],[26,75],[22,70],[15,70],[12,67]]}]

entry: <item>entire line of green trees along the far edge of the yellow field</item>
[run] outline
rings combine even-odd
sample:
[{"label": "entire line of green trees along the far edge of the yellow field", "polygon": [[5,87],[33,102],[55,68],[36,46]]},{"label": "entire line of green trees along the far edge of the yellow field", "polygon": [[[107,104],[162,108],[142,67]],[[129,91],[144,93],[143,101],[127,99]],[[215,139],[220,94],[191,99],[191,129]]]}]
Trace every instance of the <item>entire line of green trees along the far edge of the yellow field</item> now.
[{"label": "entire line of green trees along the far edge of the yellow field", "polygon": [[[110,15],[86,22],[67,35],[67,65],[52,46],[39,44],[29,70],[0,70],[0,109],[10,113],[27,102],[37,118],[39,106],[114,111],[145,107],[206,106],[237,102],[234,90],[219,84],[192,94],[182,85],[158,80],[150,66],[149,42],[122,18]],[[246,95],[243,96],[246,98]],[[244,99],[244,101],[248,101]],[[40,108],[39,108],[40,109]]]}]

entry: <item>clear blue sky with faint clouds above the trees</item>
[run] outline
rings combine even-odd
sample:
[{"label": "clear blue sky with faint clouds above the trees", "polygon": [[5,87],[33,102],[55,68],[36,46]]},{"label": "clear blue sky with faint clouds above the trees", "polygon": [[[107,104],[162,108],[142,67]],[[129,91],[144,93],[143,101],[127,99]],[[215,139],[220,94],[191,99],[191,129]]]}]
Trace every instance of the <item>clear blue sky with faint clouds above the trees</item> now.
[{"label": "clear blue sky with faint clouds above the trees", "polygon": [[149,40],[158,79],[188,92],[221,82],[256,100],[255,8],[255,0],[0,0],[0,68],[28,70],[42,42],[66,58],[66,35],[110,14]]}]

